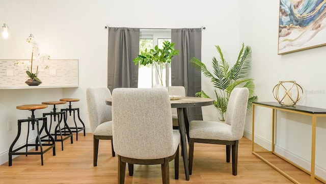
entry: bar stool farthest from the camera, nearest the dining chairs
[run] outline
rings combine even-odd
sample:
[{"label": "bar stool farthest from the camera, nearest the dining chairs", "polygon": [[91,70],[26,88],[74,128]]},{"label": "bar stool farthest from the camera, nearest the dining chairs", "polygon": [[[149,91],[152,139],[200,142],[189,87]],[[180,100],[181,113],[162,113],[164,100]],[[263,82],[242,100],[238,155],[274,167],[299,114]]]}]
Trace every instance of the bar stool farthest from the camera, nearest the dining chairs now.
[{"label": "bar stool farthest from the camera, nearest the dining chairs", "polygon": [[[71,116],[71,111],[73,112],[73,122],[75,123],[75,127],[70,127],[70,129],[71,129],[71,132],[76,133],[76,141],[78,141],[78,132],[84,130],[84,136],[86,136],[85,124],[82,121],[82,119],[80,119],[80,116],[79,116],[79,108],[72,108],[71,102],[79,101],[79,99],[78,98],[61,98],[60,101],[69,102],[68,108],[61,109],[61,112],[65,112],[66,113],[67,119],[68,119],[68,112],[69,112],[69,116]],[[82,123],[82,126],[77,126],[76,118],[75,118],[75,111],[77,111],[77,116],[78,116],[78,119],[79,119],[80,123]],[[65,131],[63,131],[63,132],[65,132]]]}]

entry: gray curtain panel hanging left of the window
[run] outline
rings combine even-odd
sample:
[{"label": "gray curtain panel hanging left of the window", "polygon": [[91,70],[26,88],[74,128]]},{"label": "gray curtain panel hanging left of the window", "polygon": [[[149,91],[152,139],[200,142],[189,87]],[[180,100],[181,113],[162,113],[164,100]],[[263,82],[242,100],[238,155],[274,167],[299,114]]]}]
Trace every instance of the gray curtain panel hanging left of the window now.
[{"label": "gray curtain panel hanging left of the window", "polygon": [[138,65],[132,60],[139,55],[138,28],[108,28],[107,87],[138,87]]}]

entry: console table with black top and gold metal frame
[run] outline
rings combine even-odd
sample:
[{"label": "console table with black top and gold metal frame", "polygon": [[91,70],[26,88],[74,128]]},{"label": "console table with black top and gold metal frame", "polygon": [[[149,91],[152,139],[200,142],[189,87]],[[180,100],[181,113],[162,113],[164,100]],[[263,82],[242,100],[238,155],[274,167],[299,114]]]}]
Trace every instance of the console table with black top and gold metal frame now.
[{"label": "console table with black top and gold metal frame", "polygon": [[[254,150],[254,143],[255,143],[254,129],[255,129],[255,107],[256,106],[272,109],[271,151],[255,151]],[[317,119],[317,117],[326,117],[326,109],[312,108],[312,107],[306,107],[306,106],[293,106],[293,107],[281,106],[278,102],[253,102],[252,108],[253,108],[252,109],[252,153],[254,155],[256,155],[259,159],[261,159],[263,162],[268,164],[270,167],[274,168],[275,170],[277,170],[279,173],[281,173],[282,175],[284,175],[285,177],[287,177],[289,180],[291,180],[294,183],[300,183],[300,182],[298,182],[297,180],[295,180],[294,178],[292,178],[291,176],[289,176],[288,174],[286,174],[285,172],[283,172],[282,170],[277,168],[275,165],[268,162],[266,159],[264,159],[262,156],[260,156],[259,153],[275,154],[278,157],[280,157],[281,159],[287,161],[288,163],[294,165],[295,167],[301,169],[302,171],[310,174],[310,183],[314,183],[315,178],[322,181],[323,183],[326,183],[326,181],[323,180],[322,178],[315,176],[316,119]],[[311,118],[312,118],[312,120],[311,120],[311,122],[312,122],[312,126],[311,126],[312,127],[312,129],[311,129],[312,137],[311,137],[311,170],[310,170],[310,172],[308,170],[304,169],[303,167],[298,166],[297,164],[289,161],[284,156],[282,156],[274,151],[276,110],[311,116]]]}]

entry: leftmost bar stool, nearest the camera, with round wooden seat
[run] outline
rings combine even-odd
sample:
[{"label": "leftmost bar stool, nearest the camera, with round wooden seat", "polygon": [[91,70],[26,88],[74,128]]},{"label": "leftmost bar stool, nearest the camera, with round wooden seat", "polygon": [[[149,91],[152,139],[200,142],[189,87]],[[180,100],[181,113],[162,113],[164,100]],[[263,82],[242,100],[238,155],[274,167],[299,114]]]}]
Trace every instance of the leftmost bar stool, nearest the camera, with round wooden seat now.
[{"label": "leftmost bar stool, nearest the camera, with round wooden seat", "polygon": [[[23,155],[23,154],[25,154],[27,156],[28,154],[40,154],[41,155],[41,164],[42,164],[42,166],[43,166],[43,154],[45,152],[47,152],[48,150],[50,150],[52,148],[52,150],[53,150],[53,156],[56,155],[56,143],[55,143],[55,140],[52,138],[52,136],[50,135],[50,133],[47,130],[46,118],[45,117],[35,118],[35,115],[34,115],[34,111],[35,110],[37,110],[37,109],[45,109],[45,108],[47,108],[47,105],[46,104],[26,104],[26,105],[22,105],[22,106],[17,106],[16,107],[16,109],[19,109],[19,110],[29,110],[29,111],[31,111],[32,112],[32,116],[31,117],[28,117],[28,119],[18,119],[18,132],[17,132],[17,136],[14,139],[14,141],[12,142],[12,144],[11,144],[11,146],[9,148],[9,153],[8,153],[9,154],[9,166],[12,166],[12,155]],[[42,121],[43,122],[45,133],[46,133],[46,135],[49,136],[49,142],[48,142],[48,144],[42,144],[42,142],[41,142],[40,131],[39,131],[39,121]],[[28,130],[27,130],[28,132],[27,132],[26,144],[13,150],[13,147],[16,144],[16,142],[17,142],[17,140],[18,140],[18,138],[20,136],[20,133],[21,133],[21,123],[23,123],[23,122],[28,122]],[[28,141],[29,141],[29,134],[30,134],[30,122],[32,123],[32,130],[34,130],[34,128],[35,128],[34,126],[35,126],[35,123],[36,123],[37,139],[38,139],[39,144],[29,144],[28,143]],[[40,151],[31,151],[31,152],[28,152],[28,147],[29,146],[36,146],[36,147],[40,146]],[[43,146],[49,146],[49,147],[43,150]],[[26,152],[18,152],[20,149],[23,149],[23,148],[26,148]]]}]

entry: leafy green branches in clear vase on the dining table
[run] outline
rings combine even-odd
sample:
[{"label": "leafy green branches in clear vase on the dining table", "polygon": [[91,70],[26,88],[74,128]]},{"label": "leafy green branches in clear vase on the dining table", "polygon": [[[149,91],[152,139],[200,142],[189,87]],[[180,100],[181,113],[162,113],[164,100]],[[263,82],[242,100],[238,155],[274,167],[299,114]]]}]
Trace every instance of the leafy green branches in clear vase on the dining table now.
[{"label": "leafy green branches in clear vase on the dining table", "polygon": [[174,48],[175,43],[169,41],[163,42],[163,48],[158,48],[158,45],[154,49],[145,49],[142,51],[137,58],[133,59],[135,65],[148,65],[153,64],[156,72],[158,73],[160,85],[163,86],[162,74],[164,72],[164,65],[166,63],[171,63],[171,59],[175,55],[179,55],[179,50]]}]

